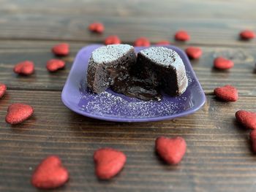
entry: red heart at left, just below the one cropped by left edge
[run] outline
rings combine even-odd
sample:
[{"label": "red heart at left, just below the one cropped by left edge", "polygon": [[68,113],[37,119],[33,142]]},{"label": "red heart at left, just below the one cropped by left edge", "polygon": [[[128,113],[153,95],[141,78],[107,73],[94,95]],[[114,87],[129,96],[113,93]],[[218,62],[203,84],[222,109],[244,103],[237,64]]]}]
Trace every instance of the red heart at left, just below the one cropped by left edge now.
[{"label": "red heart at left, just below the one cropped by left edge", "polygon": [[20,104],[20,103],[11,104],[8,107],[5,120],[7,123],[15,125],[18,123],[22,123],[24,120],[30,118],[33,112],[34,112],[33,107],[31,107],[28,104]]}]

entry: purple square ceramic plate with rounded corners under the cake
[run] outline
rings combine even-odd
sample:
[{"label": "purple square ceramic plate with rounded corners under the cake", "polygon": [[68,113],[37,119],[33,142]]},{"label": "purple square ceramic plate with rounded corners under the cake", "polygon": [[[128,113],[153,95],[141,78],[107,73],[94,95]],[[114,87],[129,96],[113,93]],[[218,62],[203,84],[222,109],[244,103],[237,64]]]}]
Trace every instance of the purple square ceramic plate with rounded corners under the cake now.
[{"label": "purple square ceramic plate with rounded corners under the cake", "polygon": [[[86,89],[86,73],[88,61],[93,50],[102,45],[83,47],[75,58],[75,62],[67,77],[61,98],[72,111],[90,118],[118,122],[143,122],[166,120],[189,115],[206,101],[203,89],[195,76],[195,72],[183,50],[174,46],[163,46],[175,50],[181,56],[187,70],[189,85],[181,96],[170,97],[163,94],[161,101],[141,101],[120,93],[107,91],[94,94]],[[135,47],[136,52],[146,47]]]}]

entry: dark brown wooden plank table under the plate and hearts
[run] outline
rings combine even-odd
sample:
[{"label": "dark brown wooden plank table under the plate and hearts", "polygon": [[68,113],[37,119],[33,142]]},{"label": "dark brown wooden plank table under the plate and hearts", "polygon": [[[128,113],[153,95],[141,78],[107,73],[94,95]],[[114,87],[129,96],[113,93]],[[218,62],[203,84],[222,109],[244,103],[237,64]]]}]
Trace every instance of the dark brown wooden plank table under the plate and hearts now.
[{"label": "dark brown wooden plank table under the plate and hearts", "polygon": [[[0,191],[37,191],[31,173],[42,158],[59,155],[69,169],[69,182],[56,191],[255,191],[256,157],[249,131],[234,118],[237,110],[255,111],[256,40],[243,42],[238,33],[256,31],[256,2],[244,1],[0,1],[0,82],[8,91],[0,100]],[[99,20],[105,33],[91,34]],[[187,43],[173,40],[178,29],[191,34]],[[125,43],[140,36],[152,43],[167,39],[181,48],[200,46],[203,57],[192,61],[206,93],[206,104],[184,118],[154,123],[113,123],[75,114],[61,102],[61,89],[78,50],[117,34]],[[49,73],[50,48],[68,42],[67,68]],[[231,58],[228,72],[212,68],[217,55]],[[12,72],[19,61],[32,60],[36,72]],[[217,101],[213,89],[230,83],[237,102]],[[34,115],[18,126],[5,123],[7,107],[23,102]],[[154,152],[159,136],[182,136],[187,153],[178,166],[167,166]],[[115,147],[127,155],[121,174],[108,182],[94,175],[92,155],[99,147]]]}]

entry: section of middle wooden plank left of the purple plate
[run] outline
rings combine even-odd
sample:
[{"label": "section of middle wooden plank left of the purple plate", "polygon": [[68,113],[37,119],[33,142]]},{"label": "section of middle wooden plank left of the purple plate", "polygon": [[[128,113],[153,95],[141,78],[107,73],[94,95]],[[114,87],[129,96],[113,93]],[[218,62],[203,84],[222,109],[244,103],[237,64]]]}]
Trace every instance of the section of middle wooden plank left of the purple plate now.
[{"label": "section of middle wooden plank left of the purple plate", "polygon": [[[51,53],[51,47],[57,43],[59,42],[4,41],[0,43],[0,82],[5,83],[10,89],[60,91],[66,82],[76,53],[85,45],[72,44],[70,55],[62,58],[66,61],[65,69],[50,73],[45,66],[48,60],[56,58]],[[35,73],[29,77],[15,74],[12,70],[15,64],[25,60],[34,61],[35,64]]]}]

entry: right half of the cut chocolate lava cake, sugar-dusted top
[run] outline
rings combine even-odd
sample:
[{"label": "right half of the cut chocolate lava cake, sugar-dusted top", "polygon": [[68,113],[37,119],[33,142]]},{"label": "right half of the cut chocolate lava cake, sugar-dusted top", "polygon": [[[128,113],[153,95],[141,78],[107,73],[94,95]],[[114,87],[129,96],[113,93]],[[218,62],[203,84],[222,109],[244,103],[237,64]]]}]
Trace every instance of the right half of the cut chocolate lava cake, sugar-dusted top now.
[{"label": "right half of the cut chocolate lava cake, sugar-dusted top", "polygon": [[[135,71],[149,78],[154,86],[170,96],[179,96],[187,89],[186,69],[176,51],[166,47],[150,47],[138,53]],[[135,72],[136,74],[136,72]]]}]

